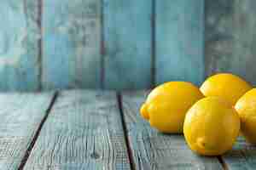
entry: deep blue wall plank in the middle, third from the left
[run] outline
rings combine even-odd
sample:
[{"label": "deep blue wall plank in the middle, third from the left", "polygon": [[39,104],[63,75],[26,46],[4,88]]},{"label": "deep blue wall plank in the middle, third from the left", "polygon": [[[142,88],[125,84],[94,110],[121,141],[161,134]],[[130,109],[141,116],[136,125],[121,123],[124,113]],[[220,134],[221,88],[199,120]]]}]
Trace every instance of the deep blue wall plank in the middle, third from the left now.
[{"label": "deep blue wall plank in the middle, third from the left", "polygon": [[149,88],[152,0],[103,0],[104,87]]}]

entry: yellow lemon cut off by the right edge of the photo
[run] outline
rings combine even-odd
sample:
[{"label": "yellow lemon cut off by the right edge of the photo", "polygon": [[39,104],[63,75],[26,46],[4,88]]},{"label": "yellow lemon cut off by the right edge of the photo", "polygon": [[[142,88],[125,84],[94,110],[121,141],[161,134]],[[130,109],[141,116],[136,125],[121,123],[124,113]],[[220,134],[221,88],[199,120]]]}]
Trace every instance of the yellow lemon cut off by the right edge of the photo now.
[{"label": "yellow lemon cut off by the right edge of the photo", "polygon": [[249,143],[256,144],[256,88],[244,94],[235,108],[241,120],[241,133]]}]

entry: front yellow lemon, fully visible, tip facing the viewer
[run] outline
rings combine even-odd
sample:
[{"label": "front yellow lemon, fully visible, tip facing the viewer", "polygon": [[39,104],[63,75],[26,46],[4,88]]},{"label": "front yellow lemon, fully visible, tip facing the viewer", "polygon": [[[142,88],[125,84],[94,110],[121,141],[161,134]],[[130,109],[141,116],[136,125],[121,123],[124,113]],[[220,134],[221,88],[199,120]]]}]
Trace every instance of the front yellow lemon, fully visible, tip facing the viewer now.
[{"label": "front yellow lemon, fully visible, tip facing the viewer", "polygon": [[183,133],[191,150],[218,156],[232,148],[240,130],[240,119],[230,102],[207,97],[193,105],[185,116]]}]

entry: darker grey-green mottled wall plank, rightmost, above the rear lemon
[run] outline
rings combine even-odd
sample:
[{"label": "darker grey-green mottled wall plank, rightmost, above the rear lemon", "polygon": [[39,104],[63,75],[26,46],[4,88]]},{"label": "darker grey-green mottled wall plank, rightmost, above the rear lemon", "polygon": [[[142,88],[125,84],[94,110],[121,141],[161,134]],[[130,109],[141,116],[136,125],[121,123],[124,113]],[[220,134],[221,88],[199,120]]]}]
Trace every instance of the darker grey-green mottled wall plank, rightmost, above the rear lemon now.
[{"label": "darker grey-green mottled wall plank, rightmost, above the rear lemon", "polygon": [[232,72],[255,83],[256,2],[206,1],[206,71]]}]

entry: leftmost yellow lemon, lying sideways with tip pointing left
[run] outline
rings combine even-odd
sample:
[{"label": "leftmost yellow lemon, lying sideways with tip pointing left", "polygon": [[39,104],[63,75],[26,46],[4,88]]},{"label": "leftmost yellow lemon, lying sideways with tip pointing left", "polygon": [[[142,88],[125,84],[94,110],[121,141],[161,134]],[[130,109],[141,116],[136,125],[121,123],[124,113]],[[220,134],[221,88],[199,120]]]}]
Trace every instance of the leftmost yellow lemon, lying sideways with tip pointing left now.
[{"label": "leftmost yellow lemon, lying sideways with tip pointing left", "polygon": [[204,96],[190,82],[166,82],[148,95],[141,115],[163,133],[182,133],[186,112]]}]

